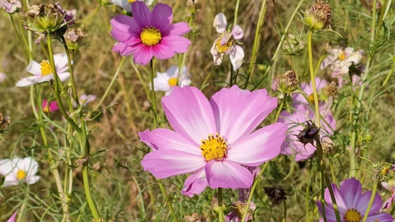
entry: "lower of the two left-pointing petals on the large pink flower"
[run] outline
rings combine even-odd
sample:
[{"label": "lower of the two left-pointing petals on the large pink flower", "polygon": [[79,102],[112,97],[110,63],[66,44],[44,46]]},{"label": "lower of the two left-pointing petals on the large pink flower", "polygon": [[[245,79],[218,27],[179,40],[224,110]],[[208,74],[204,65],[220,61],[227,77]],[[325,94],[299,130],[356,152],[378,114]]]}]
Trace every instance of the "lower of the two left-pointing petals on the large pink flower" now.
[{"label": "lower of the two left-pointing petals on the large pink flower", "polygon": [[141,161],[144,170],[151,172],[158,179],[188,174],[204,167],[205,164],[202,155],[170,149],[152,151]]}]

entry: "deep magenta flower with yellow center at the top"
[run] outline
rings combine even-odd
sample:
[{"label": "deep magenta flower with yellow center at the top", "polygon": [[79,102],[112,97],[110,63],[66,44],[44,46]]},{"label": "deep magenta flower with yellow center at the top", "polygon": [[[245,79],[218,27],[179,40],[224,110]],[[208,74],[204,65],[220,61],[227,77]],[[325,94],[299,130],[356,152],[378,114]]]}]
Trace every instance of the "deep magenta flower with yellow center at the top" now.
[{"label": "deep magenta flower with yellow center at the top", "polygon": [[173,11],[157,4],[150,12],[142,1],[132,3],[132,15],[118,15],[111,20],[111,35],[119,41],[113,51],[134,56],[135,63],[145,65],[152,57],[167,59],[188,50],[191,44],[182,35],[190,29],[186,22],[171,24]]}]

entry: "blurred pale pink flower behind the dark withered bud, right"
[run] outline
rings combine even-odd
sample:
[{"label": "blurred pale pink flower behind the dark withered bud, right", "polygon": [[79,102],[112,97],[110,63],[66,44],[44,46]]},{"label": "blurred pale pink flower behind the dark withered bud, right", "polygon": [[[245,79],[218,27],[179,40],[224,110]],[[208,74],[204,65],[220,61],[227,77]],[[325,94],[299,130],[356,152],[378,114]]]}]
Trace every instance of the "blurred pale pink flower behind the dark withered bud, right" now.
[{"label": "blurred pale pink flower behind the dark withered bud, right", "polygon": [[[320,108],[320,111],[322,111],[324,106]],[[336,130],[336,120],[333,118],[330,110],[327,110],[325,114],[322,113],[322,115],[330,127],[321,120],[320,139],[323,142],[331,143],[329,136],[333,134],[331,128]],[[293,113],[289,113],[288,111],[282,111],[280,113],[278,122],[282,122],[288,126],[286,141],[282,144],[282,154],[295,155],[295,161],[307,159],[314,154],[316,148],[312,144],[308,143],[304,145],[297,139],[297,135],[303,130],[307,120],[314,120],[314,116],[314,112],[308,111],[304,104],[297,104]]]}]

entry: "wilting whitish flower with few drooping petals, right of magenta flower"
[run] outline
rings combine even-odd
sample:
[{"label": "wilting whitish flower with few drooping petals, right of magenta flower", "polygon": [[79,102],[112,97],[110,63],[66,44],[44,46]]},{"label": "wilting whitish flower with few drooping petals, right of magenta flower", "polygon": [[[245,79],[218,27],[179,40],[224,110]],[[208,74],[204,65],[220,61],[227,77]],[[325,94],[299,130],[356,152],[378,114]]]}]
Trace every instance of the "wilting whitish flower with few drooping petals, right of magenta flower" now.
[{"label": "wilting whitish flower with few drooping petals, right of magenta flower", "polygon": [[226,30],[227,22],[223,13],[215,16],[213,26],[221,34],[217,37],[211,47],[214,65],[221,65],[224,54],[229,55],[233,70],[237,70],[243,64],[244,50],[236,44],[236,40],[243,38],[244,32],[239,25],[233,27],[231,32]]}]

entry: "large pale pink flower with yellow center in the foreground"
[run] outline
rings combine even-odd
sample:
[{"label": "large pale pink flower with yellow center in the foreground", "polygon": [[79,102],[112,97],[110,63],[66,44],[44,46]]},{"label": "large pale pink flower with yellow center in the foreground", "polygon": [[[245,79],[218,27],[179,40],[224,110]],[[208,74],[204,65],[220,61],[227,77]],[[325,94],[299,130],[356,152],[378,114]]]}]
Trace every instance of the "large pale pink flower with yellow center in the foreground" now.
[{"label": "large pale pink flower with yellow center in the foreground", "polygon": [[[233,86],[211,100],[195,87],[174,87],[162,106],[175,131],[139,132],[152,152],[141,164],[156,178],[190,174],[182,194],[212,189],[248,188],[255,167],[276,157],[287,127],[275,123],[254,131],[277,106],[265,89],[250,92]],[[254,132],[253,132],[254,131]]]}]

